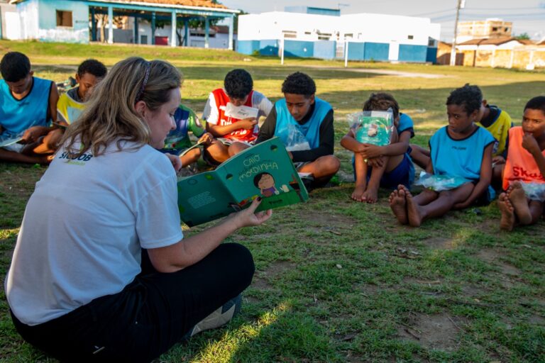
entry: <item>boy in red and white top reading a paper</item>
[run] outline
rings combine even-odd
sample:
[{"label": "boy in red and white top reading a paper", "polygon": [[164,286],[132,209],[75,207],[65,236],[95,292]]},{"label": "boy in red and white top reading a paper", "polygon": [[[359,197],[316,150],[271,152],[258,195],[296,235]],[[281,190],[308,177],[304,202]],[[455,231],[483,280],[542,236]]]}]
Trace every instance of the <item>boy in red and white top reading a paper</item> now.
[{"label": "boy in red and white top reading a paper", "polygon": [[[239,120],[226,116],[226,108],[248,106],[258,108],[258,117]],[[258,137],[258,121],[268,116],[271,102],[263,94],[253,90],[253,79],[244,69],[233,69],[224,79],[224,89],[210,93],[202,118],[207,121],[207,131],[221,143],[207,148],[207,159],[219,164],[250,147]]]}]

